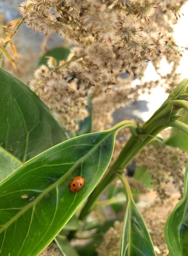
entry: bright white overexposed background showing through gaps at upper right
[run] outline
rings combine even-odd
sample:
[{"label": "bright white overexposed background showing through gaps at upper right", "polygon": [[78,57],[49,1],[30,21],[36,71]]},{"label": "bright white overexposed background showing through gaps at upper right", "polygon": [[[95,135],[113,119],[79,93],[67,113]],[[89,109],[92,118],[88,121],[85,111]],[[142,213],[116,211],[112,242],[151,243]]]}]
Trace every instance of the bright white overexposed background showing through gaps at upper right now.
[{"label": "bright white overexposed background showing through gaps at upper right", "polygon": [[[174,26],[174,38],[176,41],[176,44],[178,46],[186,47],[188,45],[188,32],[187,32],[187,25],[188,25],[188,3],[186,3],[182,9],[181,13],[184,14],[184,16],[181,14],[181,18],[178,20],[176,25]],[[188,78],[188,50],[185,50],[182,53],[183,57],[181,58],[180,66],[177,69],[177,73],[181,73],[181,80],[184,78]],[[161,61],[161,69],[159,70],[160,73],[163,75],[167,74],[171,71],[171,66],[168,65],[167,61],[165,59],[162,59]],[[143,82],[145,81],[155,81],[159,78],[157,73],[155,72],[155,69],[151,63],[148,63],[148,67],[145,71],[145,76],[143,77]],[[133,84],[139,84],[139,80],[134,80]],[[146,100],[148,101],[148,112],[139,112],[134,111],[133,114],[137,114],[139,112],[139,116],[142,117],[143,121],[147,121],[148,118],[151,117],[151,115],[162,105],[162,103],[167,99],[168,94],[165,93],[164,88],[157,87],[152,90],[152,93],[150,95],[143,94],[140,96],[140,100]]]}]

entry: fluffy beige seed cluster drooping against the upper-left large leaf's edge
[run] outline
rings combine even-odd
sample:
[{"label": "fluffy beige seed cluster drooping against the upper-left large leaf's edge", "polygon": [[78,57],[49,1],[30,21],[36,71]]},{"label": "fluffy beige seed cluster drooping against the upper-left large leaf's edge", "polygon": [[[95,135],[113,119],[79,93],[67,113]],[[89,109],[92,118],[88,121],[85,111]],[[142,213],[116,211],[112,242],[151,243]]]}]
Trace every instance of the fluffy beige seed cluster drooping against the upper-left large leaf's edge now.
[{"label": "fluffy beige seed cluster drooping against the upper-left large leaf's edge", "polygon": [[76,88],[72,77],[50,71],[42,65],[29,86],[47,104],[67,130],[78,130],[78,120],[88,115],[87,98]]}]

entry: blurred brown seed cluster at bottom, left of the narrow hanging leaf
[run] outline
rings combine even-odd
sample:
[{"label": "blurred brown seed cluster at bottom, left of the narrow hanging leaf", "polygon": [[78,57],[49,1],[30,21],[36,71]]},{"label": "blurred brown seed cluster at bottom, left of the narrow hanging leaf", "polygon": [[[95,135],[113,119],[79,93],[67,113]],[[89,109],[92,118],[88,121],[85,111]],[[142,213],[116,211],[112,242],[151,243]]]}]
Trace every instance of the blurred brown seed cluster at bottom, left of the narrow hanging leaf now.
[{"label": "blurred brown seed cluster at bottom, left of the narrow hanging leaf", "polygon": [[121,238],[122,222],[115,221],[114,228],[110,228],[104,234],[103,241],[97,248],[99,256],[116,256],[119,255],[120,238]]}]

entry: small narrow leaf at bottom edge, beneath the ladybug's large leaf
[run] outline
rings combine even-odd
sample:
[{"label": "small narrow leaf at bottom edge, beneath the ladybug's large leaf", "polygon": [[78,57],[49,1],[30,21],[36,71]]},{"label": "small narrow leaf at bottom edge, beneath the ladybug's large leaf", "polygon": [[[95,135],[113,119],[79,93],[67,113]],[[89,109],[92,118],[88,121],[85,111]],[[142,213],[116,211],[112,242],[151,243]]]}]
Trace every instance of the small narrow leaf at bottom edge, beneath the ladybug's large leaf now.
[{"label": "small narrow leaf at bottom edge, beneath the ladybug's large leaf", "polygon": [[77,251],[71,246],[66,236],[57,235],[54,239],[63,256],[79,256]]}]

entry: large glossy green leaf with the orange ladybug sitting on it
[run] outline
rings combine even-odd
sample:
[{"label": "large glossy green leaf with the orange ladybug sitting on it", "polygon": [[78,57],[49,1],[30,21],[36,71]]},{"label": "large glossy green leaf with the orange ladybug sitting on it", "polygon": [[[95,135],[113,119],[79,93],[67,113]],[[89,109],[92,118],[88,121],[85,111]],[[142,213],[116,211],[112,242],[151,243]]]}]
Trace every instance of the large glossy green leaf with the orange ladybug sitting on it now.
[{"label": "large glossy green leaf with the orange ladybug sitting on it", "polygon": [[[0,183],[1,255],[37,255],[73,216],[109,165],[115,135],[132,122],[74,137],[35,156]],[[68,190],[85,179],[78,193]]]}]

